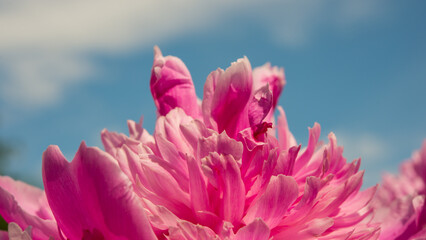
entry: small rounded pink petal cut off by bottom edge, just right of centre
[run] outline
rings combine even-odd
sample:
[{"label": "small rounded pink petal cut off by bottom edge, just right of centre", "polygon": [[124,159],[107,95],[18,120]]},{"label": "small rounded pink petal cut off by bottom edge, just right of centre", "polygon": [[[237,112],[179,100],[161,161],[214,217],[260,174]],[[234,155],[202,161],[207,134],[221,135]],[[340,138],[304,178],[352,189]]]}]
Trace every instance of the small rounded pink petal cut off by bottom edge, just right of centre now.
[{"label": "small rounded pink petal cut off by bottom edge, just right of centre", "polygon": [[238,230],[235,240],[267,240],[270,232],[268,225],[258,218]]}]

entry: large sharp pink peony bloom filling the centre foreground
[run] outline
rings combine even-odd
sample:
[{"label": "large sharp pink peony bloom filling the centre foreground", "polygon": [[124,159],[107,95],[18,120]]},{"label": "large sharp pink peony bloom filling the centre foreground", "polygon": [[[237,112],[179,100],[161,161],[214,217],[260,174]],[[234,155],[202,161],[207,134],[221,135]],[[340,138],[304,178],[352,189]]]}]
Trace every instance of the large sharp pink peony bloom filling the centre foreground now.
[{"label": "large sharp pink peony bloom filling the centre foreground", "polygon": [[129,136],[103,130],[105,152],[83,142],[71,162],[49,146],[45,191],[2,177],[0,215],[17,224],[14,232],[33,239],[379,236],[368,207],[376,187],[360,191],[360,160],[346,162],[333,133],[321,144],[317,123],[302,150],[280,107],[275,124],[283,69],[252,71],[239,59],[210,73],[199,101],[184,63],[154,51],[154,134],[128,121]]}]

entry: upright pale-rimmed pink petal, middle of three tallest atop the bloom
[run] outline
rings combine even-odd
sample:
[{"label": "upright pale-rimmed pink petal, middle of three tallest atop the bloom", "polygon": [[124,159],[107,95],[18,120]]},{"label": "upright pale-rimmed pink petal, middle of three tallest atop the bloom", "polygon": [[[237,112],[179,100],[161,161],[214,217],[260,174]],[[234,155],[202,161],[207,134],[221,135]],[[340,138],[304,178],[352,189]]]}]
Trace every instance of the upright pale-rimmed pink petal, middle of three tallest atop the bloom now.
[{"label": "upright pale-rimmed pink petal, middle of three tallest atop the bloom", "polygon": [[204,85],[202,110],[206,126],[230,137],[250,126],[247,104],[252,92],[251,65],[247,58],[223,71],[212,72]]}]

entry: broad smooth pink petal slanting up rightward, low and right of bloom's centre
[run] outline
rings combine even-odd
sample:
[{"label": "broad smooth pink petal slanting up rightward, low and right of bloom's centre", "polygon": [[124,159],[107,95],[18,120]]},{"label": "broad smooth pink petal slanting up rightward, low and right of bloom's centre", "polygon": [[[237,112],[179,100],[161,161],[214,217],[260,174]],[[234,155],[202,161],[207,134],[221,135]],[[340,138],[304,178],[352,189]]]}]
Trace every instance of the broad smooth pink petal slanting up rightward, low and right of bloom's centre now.
[{"label": "broad smooth pink petal slanting up rightward, low and right of bloom's centre", "polygon": [[248,208],[244,222],[261,218],[270,229],[274,228],[296,200],[298,192],[299,188],[293,177],[272,176],[265,193]]}]

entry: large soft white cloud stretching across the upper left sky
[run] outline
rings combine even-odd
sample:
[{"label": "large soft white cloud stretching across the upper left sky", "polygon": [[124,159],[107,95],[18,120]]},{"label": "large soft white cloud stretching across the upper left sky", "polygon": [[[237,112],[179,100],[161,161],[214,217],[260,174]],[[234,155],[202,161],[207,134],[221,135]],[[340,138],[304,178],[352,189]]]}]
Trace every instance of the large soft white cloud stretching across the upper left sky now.
[{"label": "large soft white cloud stretching across the upper left sky", "polygon": [[[365,2],[362,0],[361,2]],[[21,107],[46,106],[96,70],[90,53],[152,48],[237,14],[256,18],[276,42],[304,44],[331,1],[39,0],[0,3],[1,97]],[[346,6],[337,3],[338,6]],[[356,22],[375,6],[338,7],[335,18]],[[363,5],[363,6],[364,6]],[[357,6],[357,5],[355,5]],[[349,11],[348,11],[349,9]],[[361,9],[352,13],[351,9]],[[327,11],[326,11],[327,10]],[[341,14],[338,14],[341,13]],[[336,19],[334,19],[336,20]]]}]

